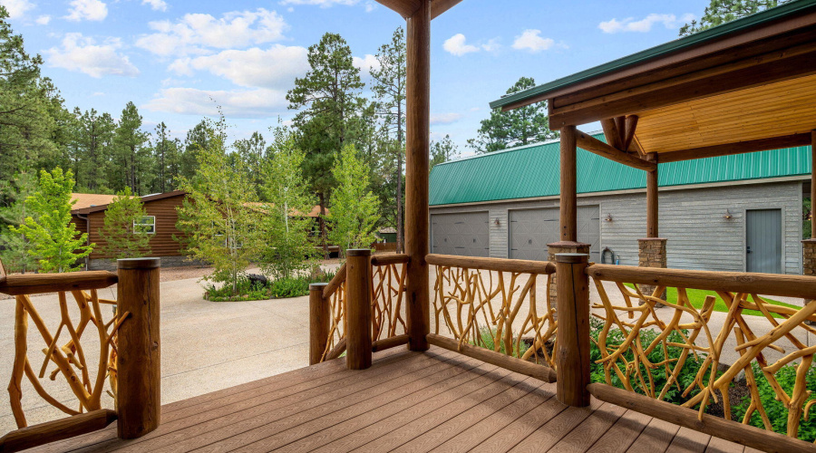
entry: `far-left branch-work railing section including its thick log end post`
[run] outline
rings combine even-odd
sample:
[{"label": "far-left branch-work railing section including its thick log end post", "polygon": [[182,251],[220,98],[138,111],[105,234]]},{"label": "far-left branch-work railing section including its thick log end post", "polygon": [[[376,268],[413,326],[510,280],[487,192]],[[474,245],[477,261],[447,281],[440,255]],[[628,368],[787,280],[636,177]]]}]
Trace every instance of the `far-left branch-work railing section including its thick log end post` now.
[{"label": "far-left branch-work railing section including its thick log end post", "polygon": [[[15,351],[8,392],[18,429],[0,438],[0,451],[67,439],[103,429],[114,420],[122,439],[155,429],[160,410],[159,259],[119,260],[116,274],[5,275],[2,269],[0,264],[0,293],[15,296]],[[113,284],[117,300],[101,298],[98,290]],[[41,309],[43,304],[58,305],[53,329],[31,298],[52,293],[56,301],[39,304]],[[106,305],[115,307],[107,321]],[[42,340],[39,351],[29,343],[29,323]],[[44,379],[53,383],[44,385]],[[73,403],[46,390],[59,385],[70,390]],[[67,417],[29,426],[23,405],[27,386]],[[102,407],[103,394],[112,397],[113,409]]]}]

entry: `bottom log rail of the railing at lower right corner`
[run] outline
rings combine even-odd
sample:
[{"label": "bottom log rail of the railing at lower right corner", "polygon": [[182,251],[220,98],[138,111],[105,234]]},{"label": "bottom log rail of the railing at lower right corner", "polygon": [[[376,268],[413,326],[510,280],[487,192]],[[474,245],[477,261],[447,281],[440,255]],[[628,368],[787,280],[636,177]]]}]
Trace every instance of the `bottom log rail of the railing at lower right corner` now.
[{"label": "bottom log rail of the railing at lower right corner", "polygon": [[632,391],[617,389],[611,385],[589,384],[588,390],[598,400],[751,448],[772,452],[804,453],[813,451],[813,444],[803,440],[789,438],[750,425],[743,425],[733,420],[721,419],[714,415],[703,414],[701,420],[697,410],[677,406],[667,401],[655,400]]}]

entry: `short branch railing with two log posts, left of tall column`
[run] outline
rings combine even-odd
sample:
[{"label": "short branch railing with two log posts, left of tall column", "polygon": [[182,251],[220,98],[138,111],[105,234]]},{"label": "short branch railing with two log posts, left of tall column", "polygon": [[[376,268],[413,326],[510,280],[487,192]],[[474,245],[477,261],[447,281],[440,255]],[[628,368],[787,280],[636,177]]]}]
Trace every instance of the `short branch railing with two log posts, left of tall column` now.
[{"label": "short branch railing with two log posts, left of tall column", "polygon": [[404,320],[408,256],[371,256],[367,249],[348,250],[346,256],[331,282],[309,286],[312,365],[344,352],[349,355],[349,366],[357,359],[370,364],[371,352],[408,342]]}]

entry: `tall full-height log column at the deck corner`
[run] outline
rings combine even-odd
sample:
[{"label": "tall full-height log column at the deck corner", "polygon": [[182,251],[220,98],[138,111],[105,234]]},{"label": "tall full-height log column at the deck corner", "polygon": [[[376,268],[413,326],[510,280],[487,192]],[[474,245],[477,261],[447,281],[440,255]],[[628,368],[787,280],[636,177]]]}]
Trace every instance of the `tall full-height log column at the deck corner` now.
[{"label": "tall full-height log column at the deck corner", "polygon": [[431,2],[422,0],[407,19],[405,112],[405,253],[410,257],[407,295],[408,348],[426,351],[431,294],[425,255],[429,246],[428,153],[431,140]]}]

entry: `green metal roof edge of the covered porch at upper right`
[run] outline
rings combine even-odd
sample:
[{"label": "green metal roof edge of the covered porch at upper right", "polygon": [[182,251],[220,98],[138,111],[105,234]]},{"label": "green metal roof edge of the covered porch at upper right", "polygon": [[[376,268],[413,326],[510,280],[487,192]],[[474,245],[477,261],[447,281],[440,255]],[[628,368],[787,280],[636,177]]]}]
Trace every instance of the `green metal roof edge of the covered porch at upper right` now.
[{"label": "green metal roof edge of the covered porch at upper right", "polygon": [[692,47],[706,41],[717,39],[727,34],[736,34],[746,28],[776,20],[780,17],[793,14],[802,14],[802,10],[811,8],[813,6],[816,6],[816,0],[793,0],[792,2],[766,9],[759,13],[746,15],[745,17],[735,21],[717,25],[702,32],[684,36],[682,38],[675,39],[674,41],[669,41],[668,43],[663,43],[656,47],[652,47],[651,49],[646,49],[645,51],[632,53],[631,55],[627,55],[623,58],[618,58],[617,60],[613,60],[609,63],[604,63],[594,68],[577,72],[553,82],[545,83],[523,92],[516,92],[506,95],[499,100],[492,101],[491,109],[498,109],[511,103],[538,96],[544,92],[551,92],[553,90],[569,86],[573,83],[582,82],[608,72],[618,71],[628,66],[633,66],[637,63],[643,63],[653,58],[663,56],[667,53],[674,53],[687,47]]}]

